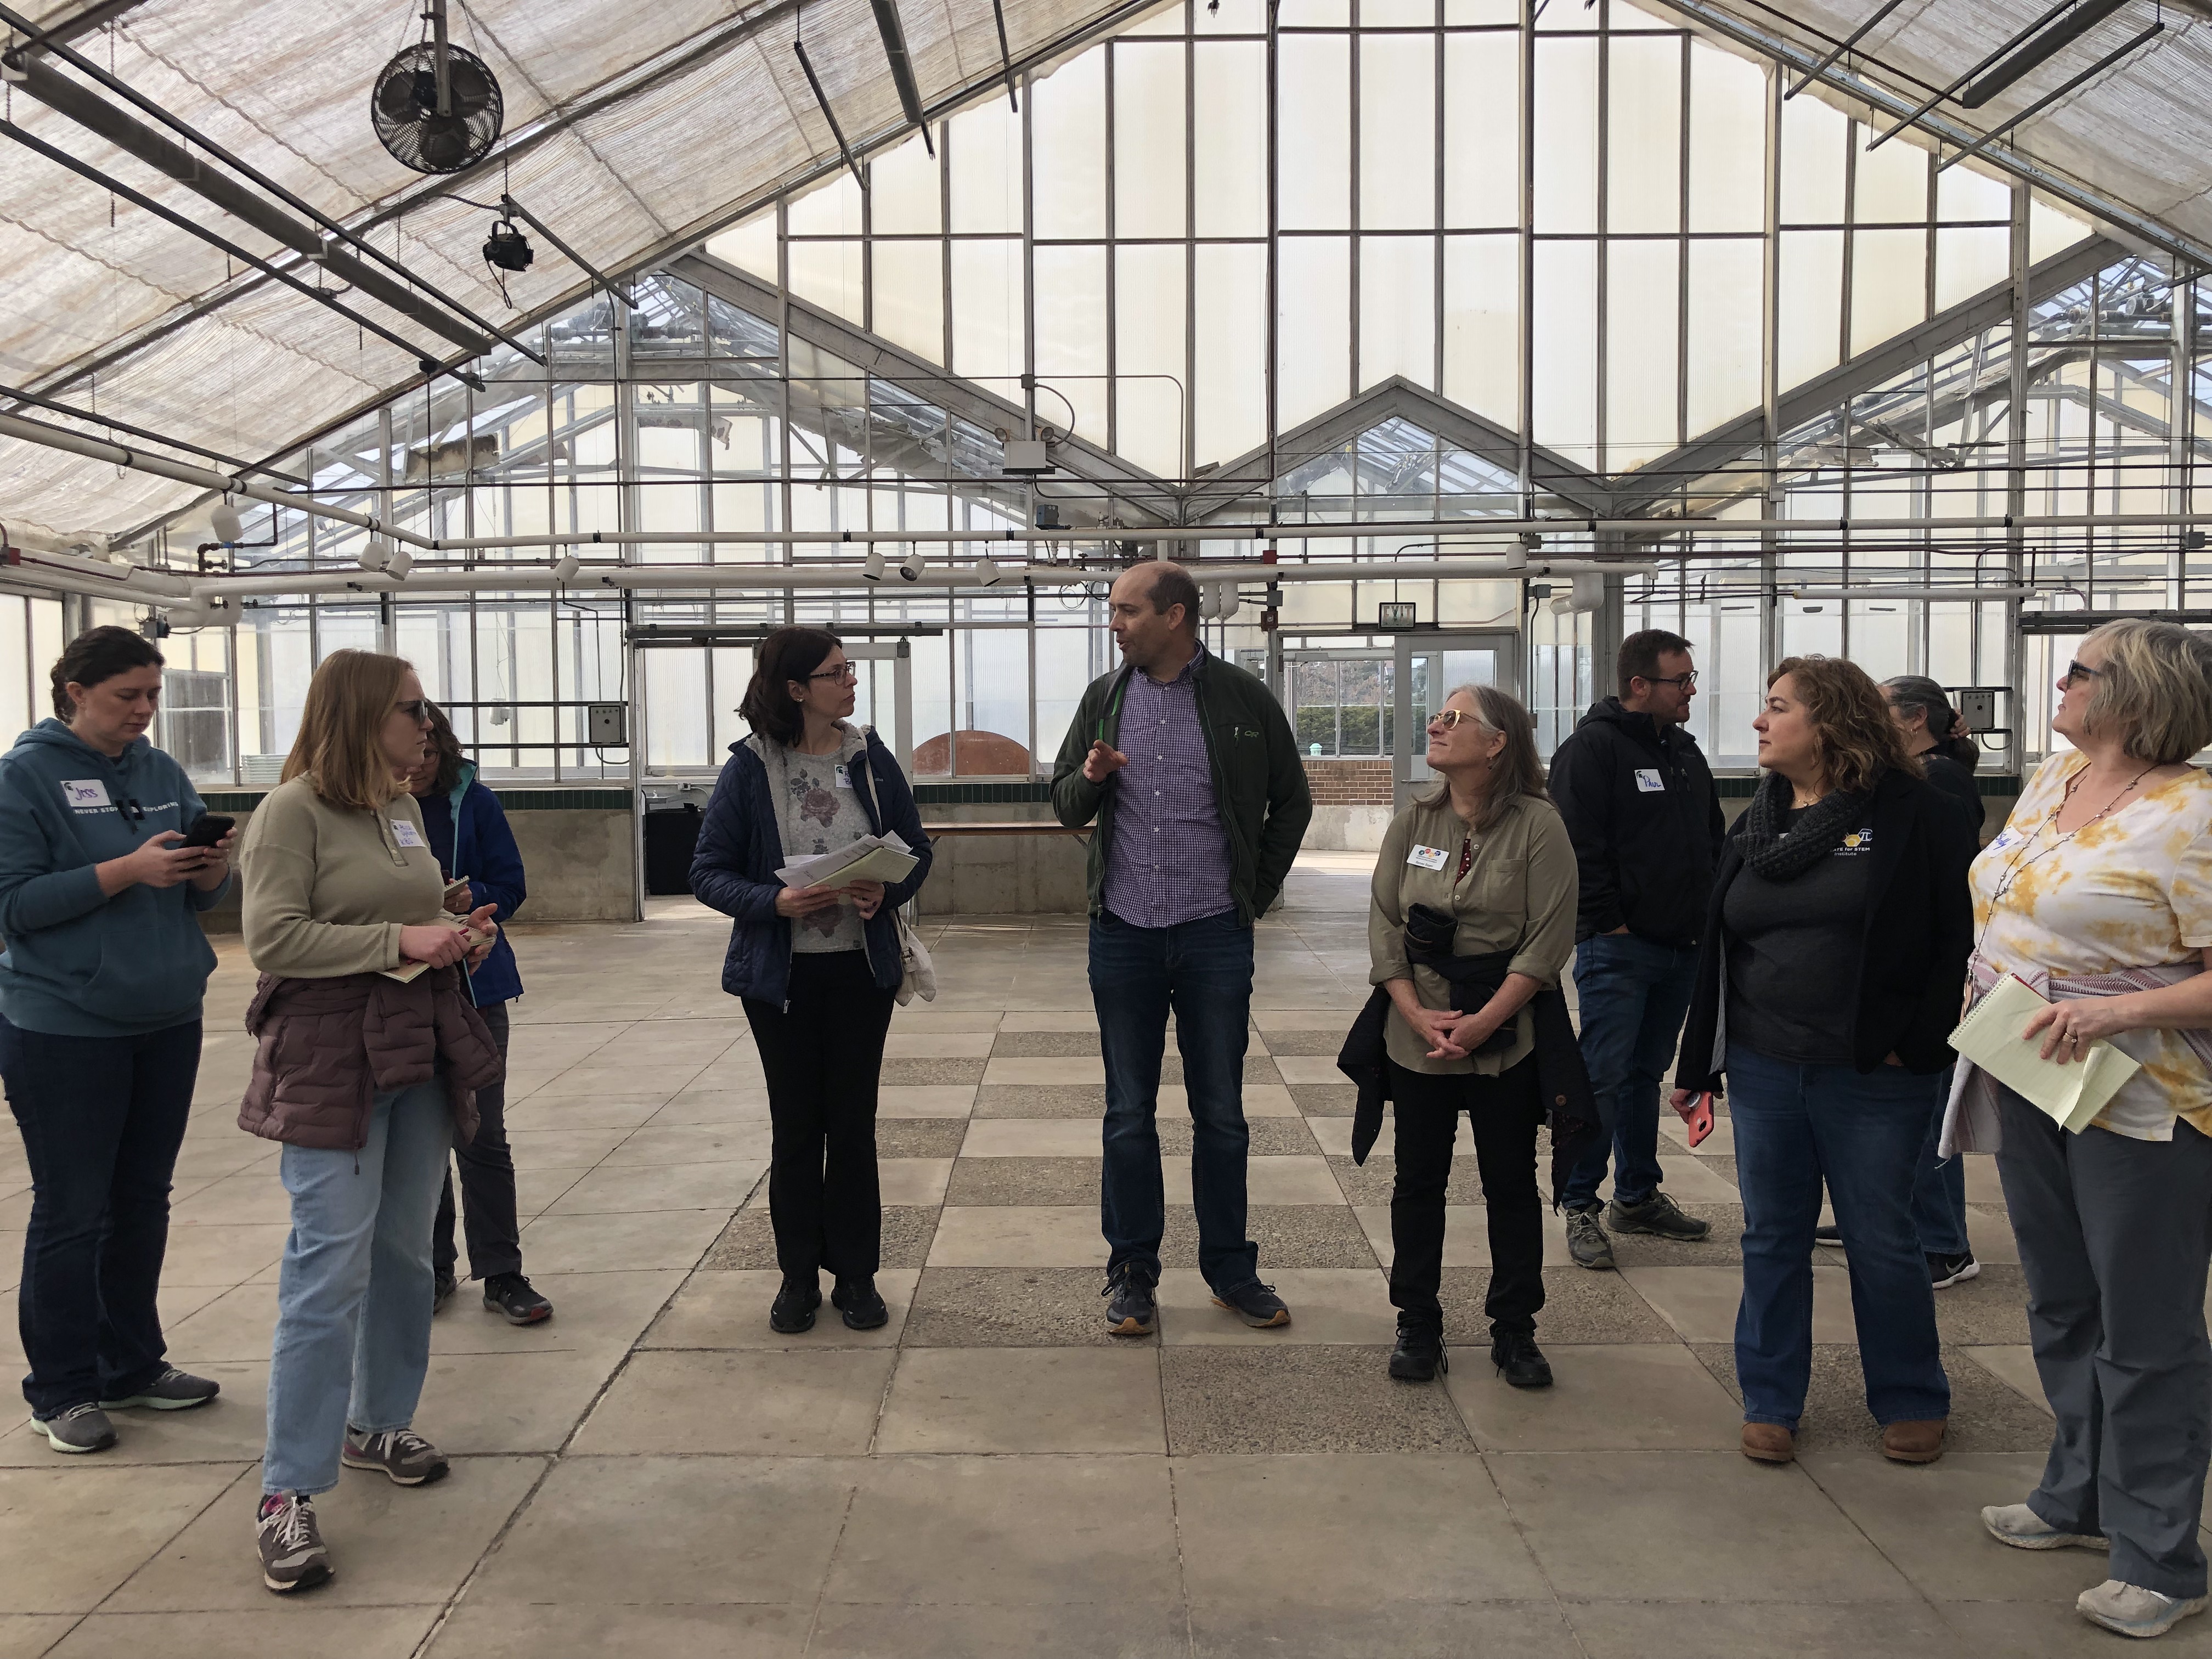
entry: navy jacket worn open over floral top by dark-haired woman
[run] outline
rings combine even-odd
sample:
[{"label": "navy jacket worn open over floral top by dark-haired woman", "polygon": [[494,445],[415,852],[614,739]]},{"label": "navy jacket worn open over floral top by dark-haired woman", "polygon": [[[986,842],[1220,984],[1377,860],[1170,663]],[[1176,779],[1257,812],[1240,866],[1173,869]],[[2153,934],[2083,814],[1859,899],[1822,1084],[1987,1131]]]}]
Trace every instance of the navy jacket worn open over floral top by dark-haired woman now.
[{"label": "navy jacket worn open over floral top by dark-haired woman", "polygon": [[[730,761],[721,768],[714,799],[706,805],[699,847],[692,854],[692,894],[701,905],[737,918],[730,929],[730,953],[721,962],[721,989],[781,1009],[792,982],[792,925],[790,918],[776,916],[776,894],[783,891],[776,865],[790,860],[783,856],[776,805],[768,799],[768,768],[752,750],[754,741],[768,739],[752,737],[730,745]],[[896,832],[922,860],[902,883],[885,887],[883,907],[867,922],[867,962],[876,971],[876,984],[894,991],[900,958],[898,922],[891,911],[929,880],[929,836],[922,834],[922,814],[914,807],[907,774],[898,770],[898,761],[874,730],[867,732],[863,783],[869,787],[860,792],[860,805],[874,832]]]}]

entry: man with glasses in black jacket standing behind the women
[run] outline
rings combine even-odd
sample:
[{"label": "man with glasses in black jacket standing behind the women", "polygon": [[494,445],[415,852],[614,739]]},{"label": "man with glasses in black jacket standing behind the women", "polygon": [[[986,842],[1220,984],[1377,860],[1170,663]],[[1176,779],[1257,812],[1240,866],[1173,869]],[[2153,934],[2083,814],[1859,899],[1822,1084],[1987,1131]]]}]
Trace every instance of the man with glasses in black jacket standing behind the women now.
[{"label": "man with glasses in black jacket standing behind the women", "polygon": [[[1683,1241],[1710,1232],[1659,1190],[1659,1079],[1690,1006],[1725,821],[1712,770],[1683,730],[1697,697],[1690,641],[1632,633],[1617,675],[1619,697],[1593,703],[1551,757],[1551,799],[1582,865],[1582,1064],[1610,1128],[1566,1177],[1566,1248],[1584,1267],[1613,1265],[1606,1223]],[[1613,1206],[1599,1221],[1608,1157]]]}]

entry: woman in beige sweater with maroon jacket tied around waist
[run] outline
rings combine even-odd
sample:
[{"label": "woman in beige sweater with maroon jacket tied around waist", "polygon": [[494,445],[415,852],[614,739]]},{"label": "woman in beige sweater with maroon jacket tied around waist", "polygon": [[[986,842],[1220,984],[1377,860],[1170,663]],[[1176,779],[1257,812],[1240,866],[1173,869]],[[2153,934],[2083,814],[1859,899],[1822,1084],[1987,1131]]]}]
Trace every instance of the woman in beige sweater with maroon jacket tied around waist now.
[{"label": "woman in beige sweater with maroon jacket tied around waist", "polygon": [[407,785],[429,717],[398,657],[338,650],[307,686],[283,783],[239,865],[261,982],[239,1128],[283,1141],[292,1237],[276,1281],[261,1582],[330,1579],[312,1498],[338,1464],[400,1486],[447,1473],[414,1431],[429,1369],[431,1217],[473,1091],[504,1077],[462,987],[498,938],[493,907],[442,909],[445,878]]}]

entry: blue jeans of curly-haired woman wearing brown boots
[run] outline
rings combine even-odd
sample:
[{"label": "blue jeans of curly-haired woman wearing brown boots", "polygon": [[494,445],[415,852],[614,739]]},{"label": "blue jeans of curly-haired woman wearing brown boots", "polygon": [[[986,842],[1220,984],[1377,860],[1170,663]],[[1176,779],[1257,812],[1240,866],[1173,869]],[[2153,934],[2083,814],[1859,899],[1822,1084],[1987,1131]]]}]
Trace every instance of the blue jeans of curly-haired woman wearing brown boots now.
[{"label": "blue jeans of curly-haired woman wearing brown boots", "polygon": [[1743,1420],[1796,1427],[1812,1378],[1812,1230],[1820,1183],[1851,1272],[1851,1318],[1876,1422],[1951,1416],[1936,1290],[1913,1232],[1913,1172],[1940,1075],[1801,1066],[1728,1044],[1728,1121],[1743,1190],[1736,1380]]}]

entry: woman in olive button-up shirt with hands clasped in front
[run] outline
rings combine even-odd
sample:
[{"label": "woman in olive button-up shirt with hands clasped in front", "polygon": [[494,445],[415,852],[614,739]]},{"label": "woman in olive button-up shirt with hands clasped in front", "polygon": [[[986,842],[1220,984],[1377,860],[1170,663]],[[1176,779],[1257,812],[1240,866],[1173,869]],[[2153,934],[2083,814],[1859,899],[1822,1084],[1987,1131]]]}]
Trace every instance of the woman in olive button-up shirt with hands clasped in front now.
[{"label": "woman in olive button-up shirt with hands clasped in front", "polygon": [[[1473,1121],[1489,1210],[1491,1360],[1520,1389],[1551,1385],[1535,1345],[1544,1305],[1544,1199],[1535,1181],[1537,1020],[1575,953],[1575,849],[1544,794],[1528,710],[1493,686],[1460,686],[1429,721],[1438,785],[1400,812],[1376,858],[1367,911],[1369,982],[1389,993],[1385,1073],[1396,1102],[1389,1298],[1398,1349],[1389,1371],[1429,1380],[1442,1365],[1444,1188],[1460,1113]],[[1486,1000],[1413,960],[1407,914],[1455,925],[1451,967],[1511,956]],[[1460,989],[1471,1011],[1458,1011]],[[1559,1020],[1564,1031],[1564,1013]],[[1568,1044],[1571,1046],[1571,1044]]]}]

